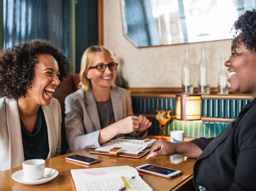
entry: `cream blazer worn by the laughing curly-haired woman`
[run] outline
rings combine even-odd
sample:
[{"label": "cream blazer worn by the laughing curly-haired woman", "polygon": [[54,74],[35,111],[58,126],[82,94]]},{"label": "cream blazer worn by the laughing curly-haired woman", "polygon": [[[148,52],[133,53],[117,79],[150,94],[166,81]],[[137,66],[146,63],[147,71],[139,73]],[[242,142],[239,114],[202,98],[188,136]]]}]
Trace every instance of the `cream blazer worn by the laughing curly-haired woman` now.
[{"label": "cream blazer worn by the laughing curly-haired woman", "polygon": [[[61,153],[61,108],[59,101],[51,99],[49,105],[41,105],[47,125],[49,154],[47,158]],[[18,102],[0,98],[0,171],[21,166],[24,151]]]}]

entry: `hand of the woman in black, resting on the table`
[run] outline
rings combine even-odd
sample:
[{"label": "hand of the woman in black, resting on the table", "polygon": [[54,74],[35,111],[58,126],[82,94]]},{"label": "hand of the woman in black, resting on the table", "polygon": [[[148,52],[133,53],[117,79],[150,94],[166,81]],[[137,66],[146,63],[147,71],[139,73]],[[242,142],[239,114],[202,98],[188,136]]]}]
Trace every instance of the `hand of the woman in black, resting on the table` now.
[{"label": "hand of the woman in black, resting on the table", "polygon": [[166,140],[157,140],[156,143],[151,147],[150,154],[147,156],[147,159],[151,157],[157,157],[161,155],[173,155],[176,154],[176,145],[177,143],[171,143]]}]

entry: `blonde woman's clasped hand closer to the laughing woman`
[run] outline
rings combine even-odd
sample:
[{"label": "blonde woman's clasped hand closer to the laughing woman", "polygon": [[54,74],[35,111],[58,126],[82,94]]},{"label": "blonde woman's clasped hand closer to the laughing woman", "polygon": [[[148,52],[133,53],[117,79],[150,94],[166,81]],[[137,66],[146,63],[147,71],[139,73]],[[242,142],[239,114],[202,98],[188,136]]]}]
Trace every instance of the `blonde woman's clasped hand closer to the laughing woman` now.
[{"label": "blonde woman's clasped hand closer to the laughing woman", "polygon": [[137,116],[129,116],[116,122],[118,134],[127,134],[139,128]]}]

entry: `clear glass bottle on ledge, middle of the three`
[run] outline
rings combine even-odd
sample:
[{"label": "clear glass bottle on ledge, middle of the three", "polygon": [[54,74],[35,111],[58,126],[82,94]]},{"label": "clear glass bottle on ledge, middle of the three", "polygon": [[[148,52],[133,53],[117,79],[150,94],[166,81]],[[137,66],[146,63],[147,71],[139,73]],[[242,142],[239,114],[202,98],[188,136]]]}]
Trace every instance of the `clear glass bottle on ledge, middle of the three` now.
[{"label": "clear glass bottle on ledge, middle of the three", "polygon": [[207,76],[207,63],[205,57],[205,48],[202,48],[201,60],[198,66],[198,93],[210,94],[210,86]]}]

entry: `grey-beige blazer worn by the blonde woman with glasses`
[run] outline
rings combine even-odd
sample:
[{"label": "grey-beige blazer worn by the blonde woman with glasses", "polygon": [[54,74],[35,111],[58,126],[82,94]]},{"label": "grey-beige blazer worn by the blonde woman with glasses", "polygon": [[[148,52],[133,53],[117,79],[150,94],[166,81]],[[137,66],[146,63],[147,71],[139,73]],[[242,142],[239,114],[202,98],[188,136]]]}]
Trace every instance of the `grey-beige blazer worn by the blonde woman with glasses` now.
[{"label": "grey-beige blazer worn by the blonde woman with glasses", "polygon": [[[110,96],[115,122],[133,115],[131,96],[126,89],[120,87],[111,89]],[[100,146],[100,117],[93,91],[77,90],[68,95],[65,98],[65,114],[66,136],[72,152]],[[138,134],[134,131],[129,136],[138,137]]]}]

